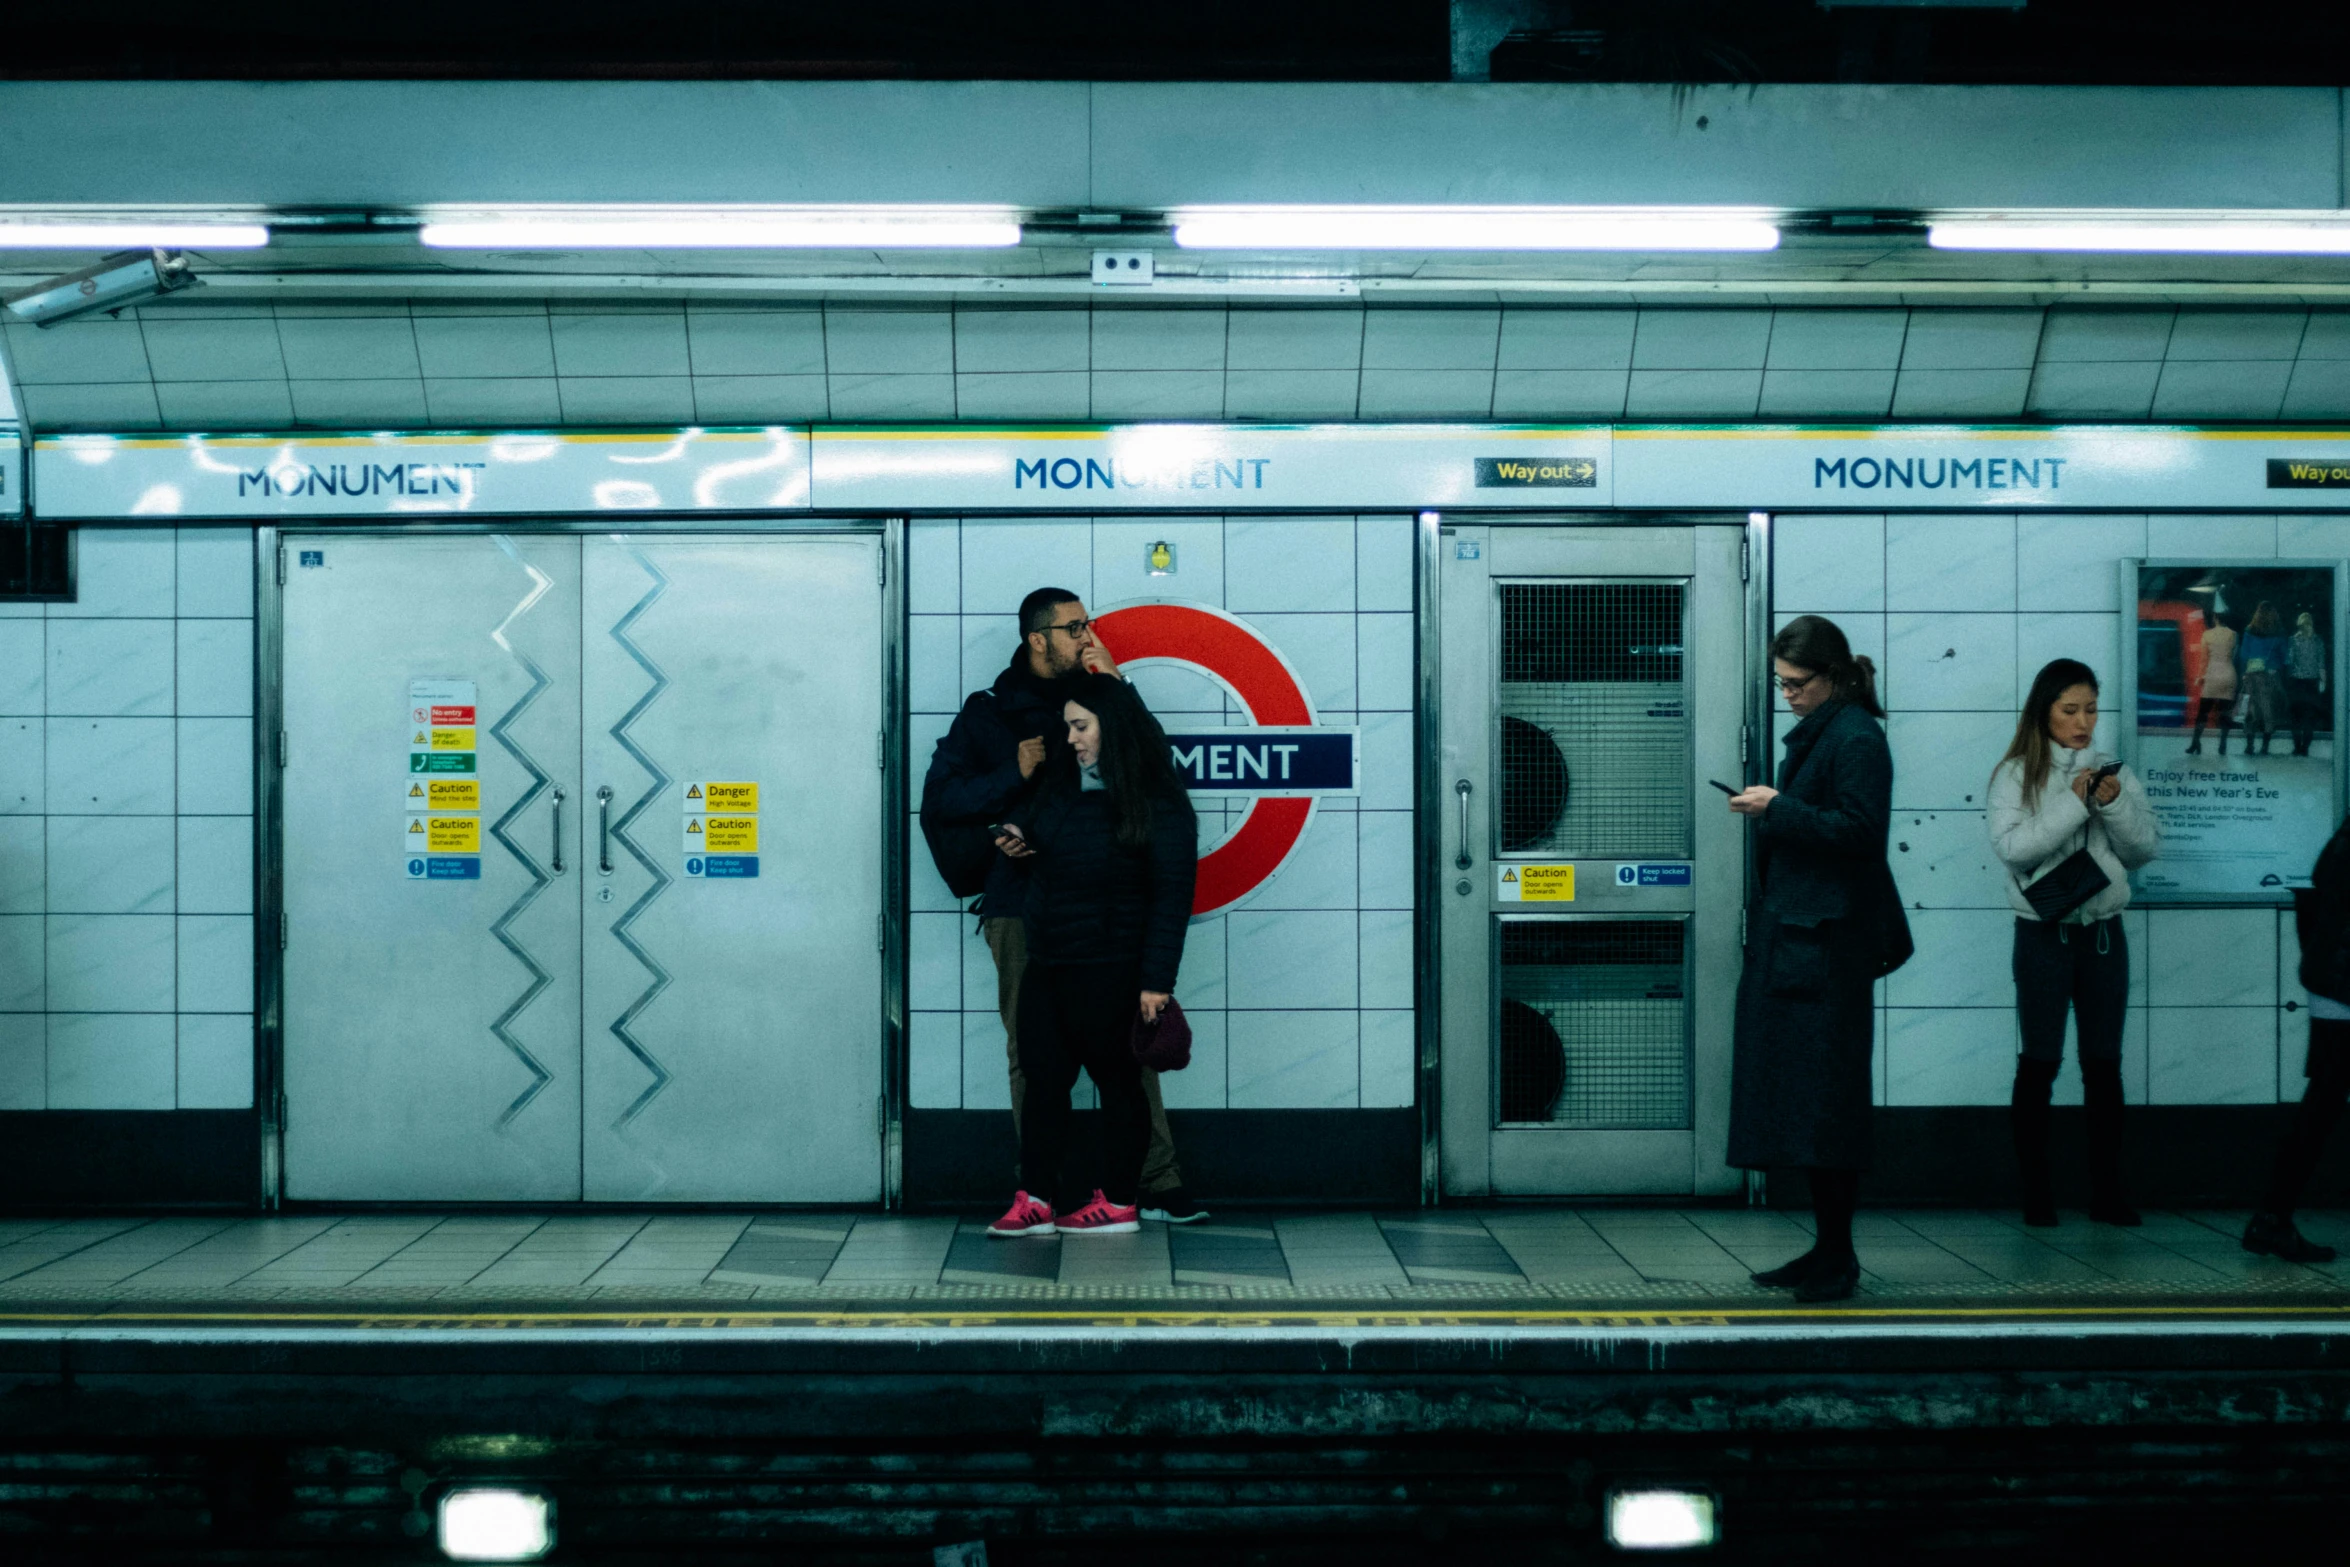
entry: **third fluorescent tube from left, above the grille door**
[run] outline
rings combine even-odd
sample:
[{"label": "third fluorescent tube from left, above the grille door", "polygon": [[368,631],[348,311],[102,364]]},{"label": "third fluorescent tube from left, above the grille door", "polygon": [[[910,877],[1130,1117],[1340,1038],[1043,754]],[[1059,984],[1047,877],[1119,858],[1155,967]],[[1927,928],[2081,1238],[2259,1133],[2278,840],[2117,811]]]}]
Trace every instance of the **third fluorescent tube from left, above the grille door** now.
[{"label": "third fluorescent tube from left, above the grille door", "polygon": [[1779,230],[1744,211],[1257,207],[1177,211],[1175,244],[1250,251],[1767,251],[1779,247]]}]

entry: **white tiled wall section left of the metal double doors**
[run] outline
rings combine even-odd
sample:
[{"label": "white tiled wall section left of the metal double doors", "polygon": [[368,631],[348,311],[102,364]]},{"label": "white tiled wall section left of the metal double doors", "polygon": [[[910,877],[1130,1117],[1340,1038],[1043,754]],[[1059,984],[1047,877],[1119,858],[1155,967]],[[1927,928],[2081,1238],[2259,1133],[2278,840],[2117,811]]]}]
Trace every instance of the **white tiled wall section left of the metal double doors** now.
[{"label": "white tiled wall section left of the metal double doors", "polygon": [[82,529],[0,604],[0,1109],[254,1099],[254,536]]}]

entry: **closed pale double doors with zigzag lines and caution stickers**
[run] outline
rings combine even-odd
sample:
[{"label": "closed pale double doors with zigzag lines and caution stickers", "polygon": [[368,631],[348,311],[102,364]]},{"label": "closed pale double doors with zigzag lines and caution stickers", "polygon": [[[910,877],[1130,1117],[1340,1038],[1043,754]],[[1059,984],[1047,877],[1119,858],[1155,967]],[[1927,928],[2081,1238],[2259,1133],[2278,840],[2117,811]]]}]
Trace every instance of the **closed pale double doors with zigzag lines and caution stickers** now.
[{"label": "closed pale double doors with zigzag lines and caution stickers", "polygon": [[881,550],[284,538],[289,1198],[881,1193]]}]

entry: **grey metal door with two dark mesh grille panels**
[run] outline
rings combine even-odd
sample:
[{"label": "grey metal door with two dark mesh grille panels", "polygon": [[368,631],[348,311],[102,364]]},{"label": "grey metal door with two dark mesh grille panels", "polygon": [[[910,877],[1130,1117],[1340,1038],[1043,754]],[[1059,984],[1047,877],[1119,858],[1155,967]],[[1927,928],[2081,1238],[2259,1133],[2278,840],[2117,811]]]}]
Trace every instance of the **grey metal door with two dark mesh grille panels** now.
[{"label": "grey metal door with two dark mesh grille panels", "polygon": [[1448,526],[1443,1179],[1727,1191],[1744,524]]}]

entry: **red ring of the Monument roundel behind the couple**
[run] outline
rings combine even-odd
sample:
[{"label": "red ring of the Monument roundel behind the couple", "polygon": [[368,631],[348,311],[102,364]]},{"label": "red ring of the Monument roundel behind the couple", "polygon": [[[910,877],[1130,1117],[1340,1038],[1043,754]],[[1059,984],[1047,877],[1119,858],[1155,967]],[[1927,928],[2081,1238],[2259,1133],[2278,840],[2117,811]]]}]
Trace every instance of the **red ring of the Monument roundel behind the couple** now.
[{"label": "red ring of the Monument roundel behind the couple", "polygon": [[[1250,724],[1311,724],[1314,705],[1281,653],[1231,616],[1201,604],[1128,604],[1093,618],[1093,632],[1121,665],[1177,663],[1222,681]],[[1191,914],[1215,914],[1248,897],[1281,869],[1307,834],[1311,799],[1255,799],[1238,832],[1201,855]]]}]

